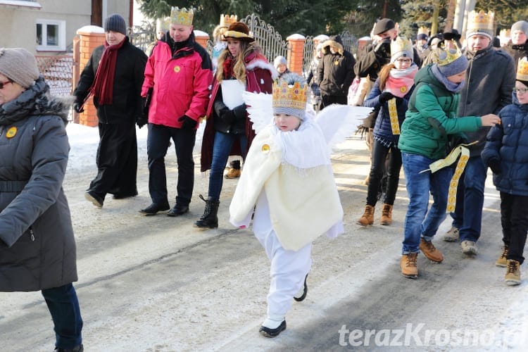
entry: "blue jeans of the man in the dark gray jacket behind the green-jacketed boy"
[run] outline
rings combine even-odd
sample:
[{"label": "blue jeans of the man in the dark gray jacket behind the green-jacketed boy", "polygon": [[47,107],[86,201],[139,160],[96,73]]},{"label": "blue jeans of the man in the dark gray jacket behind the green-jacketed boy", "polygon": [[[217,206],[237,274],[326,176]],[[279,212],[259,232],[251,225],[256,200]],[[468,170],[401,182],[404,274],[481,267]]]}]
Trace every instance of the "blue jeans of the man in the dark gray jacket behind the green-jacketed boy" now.
[{"label": "blue jeans of the man in the dark gray jacket behind the green-jacketed boy", "polygon": [[451,213],[451,218],[452,225],[458,228],[460,241],[476,242],[480,237],[487,171],[482,158],[472,156],[458,183],[455,212]]}]

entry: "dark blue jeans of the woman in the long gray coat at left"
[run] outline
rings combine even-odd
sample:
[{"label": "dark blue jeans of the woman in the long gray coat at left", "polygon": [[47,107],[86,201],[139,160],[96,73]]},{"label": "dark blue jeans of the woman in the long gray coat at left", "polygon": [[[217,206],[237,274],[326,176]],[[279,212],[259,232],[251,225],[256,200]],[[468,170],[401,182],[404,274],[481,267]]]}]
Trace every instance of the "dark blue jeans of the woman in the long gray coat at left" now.
[{"label": "dark blue jeans of the woman in the long gray coat at left", "polygon": [[51,319],[54,321],[55,346],[71,349],[82,344],[82,318],[73,284],[43,289]]}]

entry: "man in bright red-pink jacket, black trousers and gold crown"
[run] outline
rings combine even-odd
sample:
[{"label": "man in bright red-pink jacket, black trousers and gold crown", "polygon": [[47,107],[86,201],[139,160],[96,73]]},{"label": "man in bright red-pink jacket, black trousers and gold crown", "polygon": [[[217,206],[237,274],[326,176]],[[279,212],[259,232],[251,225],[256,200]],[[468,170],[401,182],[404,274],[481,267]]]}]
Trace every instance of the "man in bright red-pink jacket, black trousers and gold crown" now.
[{"label": "man in bright red-pink jacket, black trousers and gold crown", "polygon": [[[209,84],[213,79],[210,57],[196,43],[192,27],[194,10],[173,7],[165,42],[154,47],[145,68],[142,97],[149,101],[149,192],[152,203],[139,210],[145,215],[169,210],[165,154],[170,139],[178,163],[175,206],[167,213],[179,216],[189,211],[194,188],[192,156],[199,119],[206,115]],[[151,96],[151,99],[147,99]]]}]

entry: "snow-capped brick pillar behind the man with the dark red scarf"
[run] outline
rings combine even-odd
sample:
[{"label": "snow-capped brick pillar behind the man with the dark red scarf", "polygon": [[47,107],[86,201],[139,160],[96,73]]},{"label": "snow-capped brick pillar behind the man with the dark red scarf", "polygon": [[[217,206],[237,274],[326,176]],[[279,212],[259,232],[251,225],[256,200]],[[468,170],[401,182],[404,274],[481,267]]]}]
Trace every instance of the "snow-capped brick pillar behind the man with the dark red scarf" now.
[{"label": "snow-capped brick pillar behind the man with the dark red scarf", "polygon": [[[90,55],[92,55],[92,51],[94,51],[97,46],[103,45],[105,42],[103,28],[93,25],[85,26],[77,30],[77,36],[79,37],[80,42],[80,44],[78,45],[80,52],[77,56],[79,58],[79,70],[75,70],[73,77],[75,85],[79,81],[80,73],[82,73],[82,70],[84,70],[84,66],[86,66],[86,64],[88,63]],[[75,64],[76,63],[74,63],[74,65]],[[77,77],[75,77],[75,75],[77,75]],[[74,121],[75,120],[77,120],[80,125],[86,125],[90,127],[96,127],[98,125],[99,121],[97,120],[97,114],[92,98],[89,98],[88,101],[84,104],[84,112],[78,114],[78,118],[75,118],[74,116]]]}]

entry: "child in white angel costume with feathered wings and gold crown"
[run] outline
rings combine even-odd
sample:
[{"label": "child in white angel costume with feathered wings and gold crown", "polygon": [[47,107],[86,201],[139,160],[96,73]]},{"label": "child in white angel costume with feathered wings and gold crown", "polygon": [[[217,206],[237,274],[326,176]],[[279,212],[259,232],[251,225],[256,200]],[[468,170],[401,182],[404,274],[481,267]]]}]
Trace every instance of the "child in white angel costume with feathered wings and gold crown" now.
[{"label": "child in white angel costume with feathered wings and gold crown", "polygon": [[234,192],[230,222],[245,228],[253,216],[253,232],[271,262],[268,317],[259,329],[265,337],[286,329],[292,298],[306,298],[312,241],[343,232],[329,146],[352,134],[360,119],[347,115],[351,106],[307,113],[307,93],[308,84],[295,74],[282,76],[271,96],[244,93],[257,135]]}]

